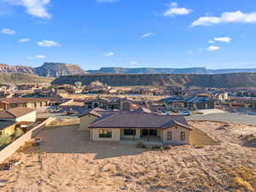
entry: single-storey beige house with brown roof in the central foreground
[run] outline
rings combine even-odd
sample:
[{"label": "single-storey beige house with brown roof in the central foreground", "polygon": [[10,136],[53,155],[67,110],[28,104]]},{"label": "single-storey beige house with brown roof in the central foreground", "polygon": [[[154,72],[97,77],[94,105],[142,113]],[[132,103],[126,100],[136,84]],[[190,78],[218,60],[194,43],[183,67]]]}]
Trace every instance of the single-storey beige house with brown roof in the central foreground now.
[{"label": "single-storey beige house with brown roof in the central foreground", "polygon": [[128,139],[189,144],[191,131],[183,116],[143,112],[108,113],[96,118],[88,127],[90,140],[94,142],[120,142]]}]

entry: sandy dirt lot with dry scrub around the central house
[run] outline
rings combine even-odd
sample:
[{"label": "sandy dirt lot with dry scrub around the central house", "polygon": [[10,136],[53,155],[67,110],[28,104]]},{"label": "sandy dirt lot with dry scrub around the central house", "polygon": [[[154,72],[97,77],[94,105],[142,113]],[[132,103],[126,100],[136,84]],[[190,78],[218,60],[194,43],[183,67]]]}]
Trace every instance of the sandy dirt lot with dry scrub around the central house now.
[{"label": "sandy dirt lot with dry scrub around the central house", "polygon": [[201,139],[196,143],[200,147],[151,150],[90,143],[88,133],[77,131],[77,126],[49,128],[40,133],[40,147],[28,145],[12,157],[20,158],[21,166],[0,172],[0,190],[254,191],[256,146],[244,138],[256,127],[206,121],[190,125],[197,128],[194,140],[209,136],[211,143]]}]

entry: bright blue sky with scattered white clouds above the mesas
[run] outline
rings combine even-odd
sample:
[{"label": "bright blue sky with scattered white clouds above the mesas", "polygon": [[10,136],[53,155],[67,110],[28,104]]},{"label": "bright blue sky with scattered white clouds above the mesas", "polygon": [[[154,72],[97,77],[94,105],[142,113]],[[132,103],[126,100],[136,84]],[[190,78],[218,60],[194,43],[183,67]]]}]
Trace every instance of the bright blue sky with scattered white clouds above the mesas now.
[{"label": "bright blue sky with scattered white clouds above the mesas", "polygon": [[0,62],[256,67],[255,0],[0,0]]}]

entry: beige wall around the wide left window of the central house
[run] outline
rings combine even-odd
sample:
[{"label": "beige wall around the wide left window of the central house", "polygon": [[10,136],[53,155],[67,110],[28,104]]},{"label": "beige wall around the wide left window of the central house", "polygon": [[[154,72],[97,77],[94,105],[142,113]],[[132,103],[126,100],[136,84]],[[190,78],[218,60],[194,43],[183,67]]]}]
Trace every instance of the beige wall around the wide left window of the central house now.
[{"label": "beige wall around the wide left window of the central house", "polygon": [[[101,138],[99,137],[100,130],[111,130],[112,137],[111,138]],[[119,142],[121,136],[121,131],[118,128],[115,129],[108,129],[108,128],[101,128],[101,129],[90,129],[90,137],[91,140],[94,142]]]}]

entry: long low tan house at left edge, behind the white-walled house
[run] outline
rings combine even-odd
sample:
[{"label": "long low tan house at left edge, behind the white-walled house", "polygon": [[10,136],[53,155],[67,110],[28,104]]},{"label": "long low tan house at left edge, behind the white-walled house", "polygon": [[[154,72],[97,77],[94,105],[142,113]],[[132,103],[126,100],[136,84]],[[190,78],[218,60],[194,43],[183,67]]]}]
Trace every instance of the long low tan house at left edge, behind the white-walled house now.
[{"label": "long low tan house at left edge, behind the white-walled house", "polygon": [[12,97],[4,98],[0,100],[0,108],[42,108],[49,105],[48,98],[37,98],[37,97]]}]

